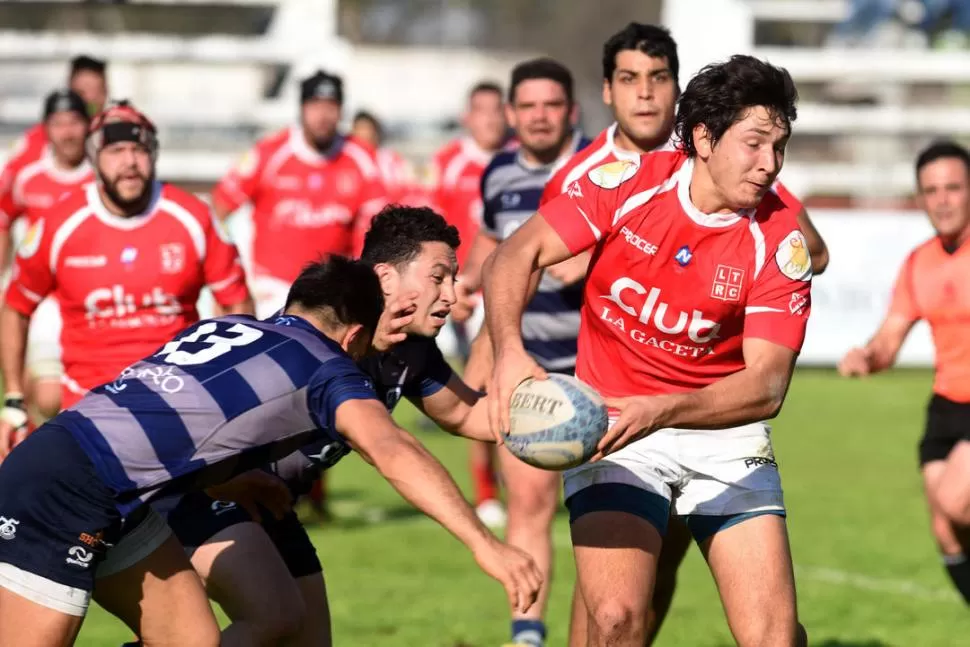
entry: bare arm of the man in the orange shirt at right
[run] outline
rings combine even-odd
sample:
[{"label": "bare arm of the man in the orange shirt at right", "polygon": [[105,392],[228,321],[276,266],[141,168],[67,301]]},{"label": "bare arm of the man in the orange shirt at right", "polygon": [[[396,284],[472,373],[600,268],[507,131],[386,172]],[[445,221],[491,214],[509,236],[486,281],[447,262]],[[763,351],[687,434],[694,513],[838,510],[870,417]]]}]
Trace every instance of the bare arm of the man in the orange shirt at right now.
[{"label": "bare arm of the man in the orange shirt at right", "polygon": [[913,263],[911,254],[896,278],[892,303],[879,330],[865,346],[853,348],[839,362],[839,374],[855,377],[878,373],[896,363],[896,355],[903,342],[920,320],[921,315],[913,291]]}]

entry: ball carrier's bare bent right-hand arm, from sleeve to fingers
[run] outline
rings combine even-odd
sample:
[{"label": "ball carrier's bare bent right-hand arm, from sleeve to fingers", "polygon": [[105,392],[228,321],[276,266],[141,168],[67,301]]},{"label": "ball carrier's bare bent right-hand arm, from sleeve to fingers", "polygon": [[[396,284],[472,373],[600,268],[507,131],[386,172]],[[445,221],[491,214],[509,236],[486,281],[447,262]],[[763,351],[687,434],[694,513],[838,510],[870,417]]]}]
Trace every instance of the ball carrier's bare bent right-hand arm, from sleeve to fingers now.
[{"label": "ball carrier's bare bent right-hand arm, from sleeve to fingers", "polygon": [[592,460],[666,427],[726,429],[774,418],[781,410],[795,369],[792,349],[764,339],[743,345],[745,367],[696,391],[661,396],[606,398],[619,411]]}]

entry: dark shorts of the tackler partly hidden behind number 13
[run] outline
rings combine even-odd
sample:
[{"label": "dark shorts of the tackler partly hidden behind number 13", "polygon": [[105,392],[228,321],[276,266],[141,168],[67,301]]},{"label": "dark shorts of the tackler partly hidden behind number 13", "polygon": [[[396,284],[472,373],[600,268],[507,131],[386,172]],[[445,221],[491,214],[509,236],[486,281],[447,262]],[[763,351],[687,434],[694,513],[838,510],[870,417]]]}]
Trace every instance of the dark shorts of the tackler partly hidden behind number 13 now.
[{"label": "dark shorts of the tackler partly hidden behind number 13", "polygon": [[[226,528],[253,520],[235,503],[217,501],[202,492],[186,494],[174,505],[160,502],[156,509],[165,516],[176,538],[189,551],[194,551]],[[290,575],[304,577],[323,570],[317,549],[295,512],[290,511],[279,520],[269,513],[263,518],[263,530],[276,546]]]}]

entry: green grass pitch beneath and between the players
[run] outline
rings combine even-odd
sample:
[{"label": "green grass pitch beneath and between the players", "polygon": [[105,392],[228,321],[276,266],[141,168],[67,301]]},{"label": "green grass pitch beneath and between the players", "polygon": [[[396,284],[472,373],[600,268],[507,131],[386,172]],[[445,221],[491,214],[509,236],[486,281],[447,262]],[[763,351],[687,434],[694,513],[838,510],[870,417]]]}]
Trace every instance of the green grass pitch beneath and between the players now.
[{"label": "green grass pitch beneath and between the players", "polygon": [[[928,372],[843,381],[796,375],[774,442],[787,495],[799,611],[812,645],[970,645],[970,613],[951,590],[929,533],[916,462]],[[402,408],[403,409],[403,408]],[[413,427],[413,410],[400,418]],[[419,437],[468,487],[463,441]],[[444,530],[417,515],[356,457],[331,472],[337,520],[314,528],[327,573],[335,643],[494,647],[507,638],[504,594]],[[549,645],[566,641],[573,564],[556,522]],[[100,609],[81,645],[120,645],[128,631]],[[684,563],[660,645],[731,645],[696,550]]]}]

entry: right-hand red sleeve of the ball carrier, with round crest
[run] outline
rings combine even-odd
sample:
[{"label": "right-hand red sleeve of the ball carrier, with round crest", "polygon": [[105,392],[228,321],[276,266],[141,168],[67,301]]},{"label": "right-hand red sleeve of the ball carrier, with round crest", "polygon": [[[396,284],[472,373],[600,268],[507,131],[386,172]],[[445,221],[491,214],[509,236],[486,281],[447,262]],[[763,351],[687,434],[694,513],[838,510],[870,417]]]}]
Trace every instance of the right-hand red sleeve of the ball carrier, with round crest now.
[{"label": "right-hand red sleeve of the ball carrier, with round crest", "polygon": [[748,294],[744,337],[765,339],[797,353],[805,341],[812,308],[808,243],[801,231],[793,229],[768,251],[773,257],[765,259]]}]

